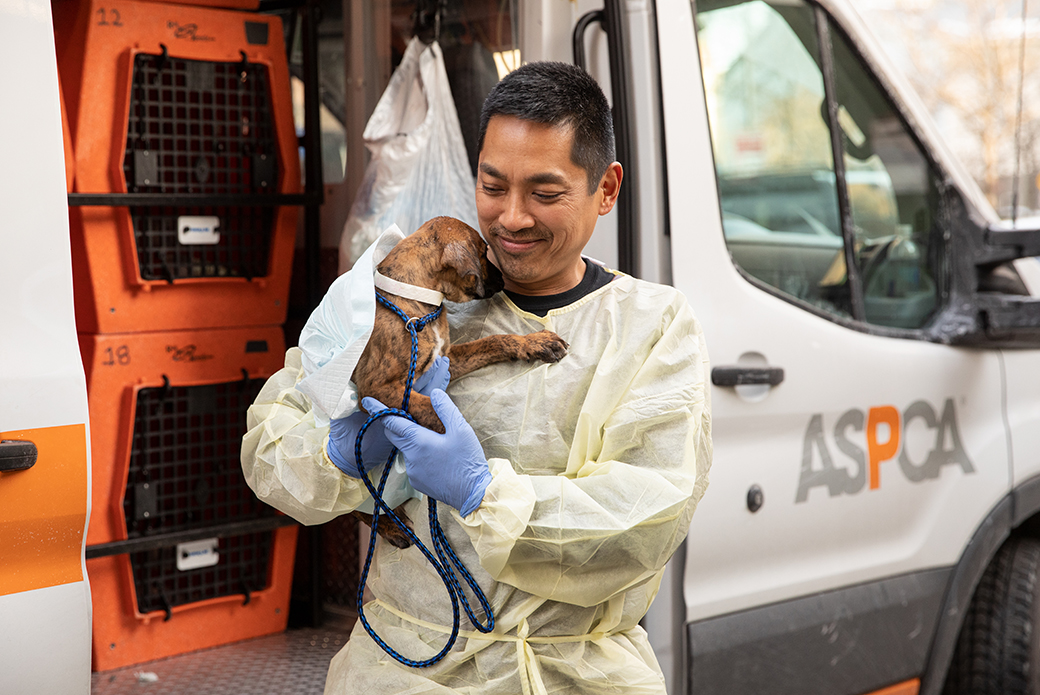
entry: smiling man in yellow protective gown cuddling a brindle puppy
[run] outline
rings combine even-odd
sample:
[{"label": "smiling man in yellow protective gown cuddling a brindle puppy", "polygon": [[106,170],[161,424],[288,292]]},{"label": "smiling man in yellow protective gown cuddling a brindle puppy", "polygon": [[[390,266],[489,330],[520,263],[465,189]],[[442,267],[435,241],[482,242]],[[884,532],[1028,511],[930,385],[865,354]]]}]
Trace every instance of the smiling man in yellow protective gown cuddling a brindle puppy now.
[{"label": "smiling man in yellow protective gown cuddling a brindle puppy", "polygon": [[[450,307],[452,340],[548,329],[571,350],[556,364],[486,367],[451,382],[450,397],[433,389],[444,435],[385,418],[385,437],[415,489],[445,503],[441,523],[495,629],[463,618],[454,648],[416,669],[359,624],[326,692],[664,693],[638,623],[707,485],[700,328],[675,289],[581,257],[622,180],[606,99],[583,71],[531,63],[506,76],[485,103],[479,143],[480,231],[505,291]],[[294,390],[298,357],[283,372],[251,409],[261,421],[243,467],[262,498],[317,522],[360,504],[364,488],[332,462],[352,457],[353,439],[324,440]],[[428,545],[418,500],[408,513]],[[450,604],[418,549],[381,542],[368,587],[368,620],[398,652],[421,660],[445,643]]]}]

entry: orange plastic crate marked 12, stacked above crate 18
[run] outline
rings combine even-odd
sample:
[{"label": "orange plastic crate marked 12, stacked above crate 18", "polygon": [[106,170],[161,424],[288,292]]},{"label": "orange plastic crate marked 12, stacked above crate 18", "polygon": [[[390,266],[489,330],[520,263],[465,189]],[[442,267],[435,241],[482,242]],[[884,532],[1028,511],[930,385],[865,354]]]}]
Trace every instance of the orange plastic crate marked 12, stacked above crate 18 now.
[{"label": "orange plastic crate marked 12, stacked above crate 18", "polygon": [[163,203],[70,208],[80,332],[283,323],[300,208],[261,204],[301,192],[281,21],[73,0],[54,17],[75,191]]}]

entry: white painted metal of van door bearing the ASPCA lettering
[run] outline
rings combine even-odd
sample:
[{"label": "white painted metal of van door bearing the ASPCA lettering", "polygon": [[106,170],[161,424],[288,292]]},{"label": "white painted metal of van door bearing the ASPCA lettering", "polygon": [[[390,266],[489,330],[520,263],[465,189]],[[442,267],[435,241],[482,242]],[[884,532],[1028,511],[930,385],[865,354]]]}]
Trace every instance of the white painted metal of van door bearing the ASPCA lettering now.
[{"label": "white painted metal of van door bearing the ASPCA lettering", "polygon": [[[657,12],[674,284],[704,325],[712,366],[784,370],[774,387],[713,389],[711,492],[686,543],[687,620],[953,566],[1010,489],[997,354],[854,330],[735,267],[694,18],[678,1]],[[892,428],[872,430],[884,413]],[[942,413],[950,427],[930,427]],[[920,470],[938,461],[933,451],[955,448],[961,464]],[[753,486],[764,498],[754,513]]]}]

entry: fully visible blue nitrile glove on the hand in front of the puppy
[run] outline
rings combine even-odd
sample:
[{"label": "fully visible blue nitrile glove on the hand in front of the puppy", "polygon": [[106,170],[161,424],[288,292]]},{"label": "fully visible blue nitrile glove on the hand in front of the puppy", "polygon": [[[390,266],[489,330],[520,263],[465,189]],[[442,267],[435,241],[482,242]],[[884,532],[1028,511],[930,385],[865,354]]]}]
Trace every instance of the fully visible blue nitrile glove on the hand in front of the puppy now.
[{"label": "fully visible blue nitrile glove on the hand in front of the puppy", "polygon": [[[412,487],[469,516],[484,501],[491,483],[488,460],[480,442],[448,394],[434,389],[434,411],[444,424],[444,434],[427,430],[404,417],[386,417],[386,437],[405,456]],[[375,398],[365,398],[365,408],[384,408]]]}]

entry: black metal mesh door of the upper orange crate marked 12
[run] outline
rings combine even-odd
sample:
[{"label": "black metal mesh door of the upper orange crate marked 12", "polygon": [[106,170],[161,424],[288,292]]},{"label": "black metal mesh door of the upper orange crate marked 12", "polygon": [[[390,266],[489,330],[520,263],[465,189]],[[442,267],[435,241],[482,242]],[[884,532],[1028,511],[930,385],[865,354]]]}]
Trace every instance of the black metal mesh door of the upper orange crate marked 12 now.
[{"label": "black metal mesh door of the upper orange crate marked 12", "polygon": [[[134,57],[123,160],[131,192],[274,194],[276,137],[266,66]],[[185,242],[184,216],[215,217],[219,240]],[[271,207],[131,207],[130,217],[145,280],[267,274]]]}]

